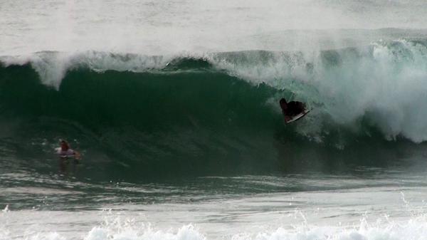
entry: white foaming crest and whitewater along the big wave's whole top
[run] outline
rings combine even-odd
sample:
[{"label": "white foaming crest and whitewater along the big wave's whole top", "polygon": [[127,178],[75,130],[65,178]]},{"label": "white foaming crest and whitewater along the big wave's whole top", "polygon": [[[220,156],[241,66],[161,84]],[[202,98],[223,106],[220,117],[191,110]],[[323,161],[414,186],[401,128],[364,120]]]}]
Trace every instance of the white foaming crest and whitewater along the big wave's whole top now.
[{"label": "white foaming crest and whitewater along the big wave's whole top", "polygon": [[[181,71],[228,73],[253,85],[260,83],[292,93],[316,111],[306,135],[325,133],[324,125],[359,131],[361,122],[378,127],[389,140],[401,135],[413,142],[427,140],[426,41],[377,41],[360,48],[330,51],[241,51],[144,56],[86,51],[41,52],[3,57],[6,66],[31,63],[41,81],[55,88],[75,68],[174,74]],[[276,98],[277,96],[272,96]],[[327,118],[325,118],[327,116]],[[327,134],[327,133],[326,133]]]}]

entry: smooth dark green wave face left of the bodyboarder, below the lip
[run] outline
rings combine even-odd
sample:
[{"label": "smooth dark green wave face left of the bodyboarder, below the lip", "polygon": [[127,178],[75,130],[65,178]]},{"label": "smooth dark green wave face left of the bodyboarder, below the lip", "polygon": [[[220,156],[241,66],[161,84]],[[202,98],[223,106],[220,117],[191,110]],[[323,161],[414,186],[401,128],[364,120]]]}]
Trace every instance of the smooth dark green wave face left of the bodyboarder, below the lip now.
[{"label": "smooth dark green wave face left of the bodyboarder, below the lip", "polygon": [[262,157],[264,141],[283,126],[266,104],[278,90],[225,73],[80,69],[59,90],[41,84],[31,66],[1,68],[0,76],[1,123],[11,125],[5,142],[35,142],[14,151],[32,159],[52,157],[67,139],[88,161],[137,165],[145,174],[233,172],[243,156]]}]

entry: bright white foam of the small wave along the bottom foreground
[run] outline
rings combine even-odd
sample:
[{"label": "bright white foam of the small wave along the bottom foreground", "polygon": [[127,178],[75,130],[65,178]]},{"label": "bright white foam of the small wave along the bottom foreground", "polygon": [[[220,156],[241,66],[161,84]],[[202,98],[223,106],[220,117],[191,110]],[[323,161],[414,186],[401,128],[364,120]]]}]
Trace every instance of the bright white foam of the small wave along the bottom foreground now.
[{"label": "bright white foam of the small wave along the bottom foreground", "polygon": [[[117,224],[117,222],[116,222]],[[126,225],[126,224],[125,224]],[[95,226],[85,236],[84,240],[209,240],[209,236],[201,234],[192,225],[181,226],[179,229],[153,229],[149,224],[140,226]],[[0,239],[9,239],[11,235],[2,231]],[[28,240],[65,240],[67,238],[56,232],[33,233],[14,239]],[[374,223],[365,219],[354,226],[310,226],[303,224],[292,227],[279,227],[260,233],[241,232],[232,236],[223,236],[231,240],[407,240],[427,239],[427,225],[425,216],[414,217],[408,221],[391,221],[384,217]],[[214,240],[214,239],[212,239]]]}]

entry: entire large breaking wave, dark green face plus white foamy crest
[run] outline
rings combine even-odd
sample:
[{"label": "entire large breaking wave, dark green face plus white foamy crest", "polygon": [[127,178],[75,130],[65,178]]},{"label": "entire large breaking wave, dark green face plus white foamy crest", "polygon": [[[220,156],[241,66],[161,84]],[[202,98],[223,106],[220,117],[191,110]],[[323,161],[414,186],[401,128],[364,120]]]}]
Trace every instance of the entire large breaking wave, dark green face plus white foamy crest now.
[{"label": "entire large breaking wave, dark green face plus white foamy crest", "polygon": [[[0,147],[8,156],[41,157],[65,138],[122,166],[252,171],[277,169],[278,159],[289,169],[308,155],[352,152],[347,161],[363,162],[360,149],[390,159],[390,148],[427,140],[425,41],[310,54],[43,52],[1,59],[0,124],[8,130]],[[312,111],[284,125],[283,97]],[[31,152],[14,147],[21,141],[47,143]]]}]

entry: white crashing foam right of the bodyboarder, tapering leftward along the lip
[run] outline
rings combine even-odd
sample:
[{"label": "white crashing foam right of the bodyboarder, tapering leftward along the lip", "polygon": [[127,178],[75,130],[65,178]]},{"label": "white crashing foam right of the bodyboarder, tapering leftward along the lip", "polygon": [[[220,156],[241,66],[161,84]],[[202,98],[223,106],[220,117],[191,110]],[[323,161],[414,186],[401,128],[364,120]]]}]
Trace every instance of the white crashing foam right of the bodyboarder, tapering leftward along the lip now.
[{"label": "white crashing foam right of the bodyboarder, tapering leftward along the lip", "polygon": [[[248,56],[245,56],[247,54]],[[378,41],[368,48],[314,53],[248,52],[212,62],[231,75],[287,89],[299,100],[320,105],[340,125],[364,118],[389,140],[427,140],[427,48],[406,40]],[[249,61],[248,61],[249,60]],[[318,118],[312,125],[322,125]],[[319,127],[301,129],[310,134]],[[317,135],[317,134],[314,134]]]}]

